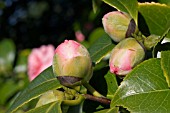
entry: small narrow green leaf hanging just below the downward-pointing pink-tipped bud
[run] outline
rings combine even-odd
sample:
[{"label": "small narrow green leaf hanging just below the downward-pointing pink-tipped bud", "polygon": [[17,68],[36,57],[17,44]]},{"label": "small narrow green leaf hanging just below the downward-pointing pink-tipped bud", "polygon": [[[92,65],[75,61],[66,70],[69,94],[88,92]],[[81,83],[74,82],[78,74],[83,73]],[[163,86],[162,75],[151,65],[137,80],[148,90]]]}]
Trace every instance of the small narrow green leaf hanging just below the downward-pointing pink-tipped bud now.
[{"label": "small narrow green leaf hanging just below the downward-pointing pink-tipped bud", "polygon": [[108,98],[112,98],[114,93],[116,92],[116,90],[118,89],[118,84],[117,84],[117,80],[116,80],[116,75],[110,73],[110,71],[108,71],[108,73],[104,76],[106,83],[107,83],[107,97]]}]

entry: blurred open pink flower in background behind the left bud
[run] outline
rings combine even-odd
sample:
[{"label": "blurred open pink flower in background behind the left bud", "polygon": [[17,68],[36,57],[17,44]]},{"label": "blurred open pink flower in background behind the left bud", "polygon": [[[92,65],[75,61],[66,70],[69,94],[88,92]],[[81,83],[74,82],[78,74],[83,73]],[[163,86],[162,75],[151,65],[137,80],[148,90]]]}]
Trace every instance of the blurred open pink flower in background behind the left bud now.
[{"label": "blurred open pink flower in background behind the left bud", "polygon": [[44,69],[52,65],[54,56],[53,45],[43,45],[34,48],[28,57],[28,76],[30,81],[37,77]]}]

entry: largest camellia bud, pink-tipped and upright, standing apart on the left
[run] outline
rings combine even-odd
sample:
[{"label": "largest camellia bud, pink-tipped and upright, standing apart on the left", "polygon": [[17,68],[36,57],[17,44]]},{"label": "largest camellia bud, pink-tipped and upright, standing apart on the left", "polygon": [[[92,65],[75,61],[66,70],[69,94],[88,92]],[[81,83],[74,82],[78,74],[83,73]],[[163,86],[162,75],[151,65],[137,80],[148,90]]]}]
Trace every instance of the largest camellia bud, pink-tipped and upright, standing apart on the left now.
[{"label": "largest camellia bud, pink-tipped and upright, standing apart on the left", "polygon": [[53,72],[64,86],[80,85],[92,76],[92,62],[87,49],[73,40],[65,40],[55,50]]}]

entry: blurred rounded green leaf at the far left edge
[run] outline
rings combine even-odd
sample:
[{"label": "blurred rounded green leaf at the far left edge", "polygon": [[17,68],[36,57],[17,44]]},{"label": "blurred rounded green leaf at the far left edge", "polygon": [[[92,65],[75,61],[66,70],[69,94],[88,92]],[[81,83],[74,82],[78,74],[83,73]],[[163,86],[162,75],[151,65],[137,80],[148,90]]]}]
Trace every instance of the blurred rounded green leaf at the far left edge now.
[{"label": "blurred rounded green leaf at the far left edge", "polygon": [[0,42],[0,74],[12,69],[15,59],[15,45],[12,40],[4,39]]}]

